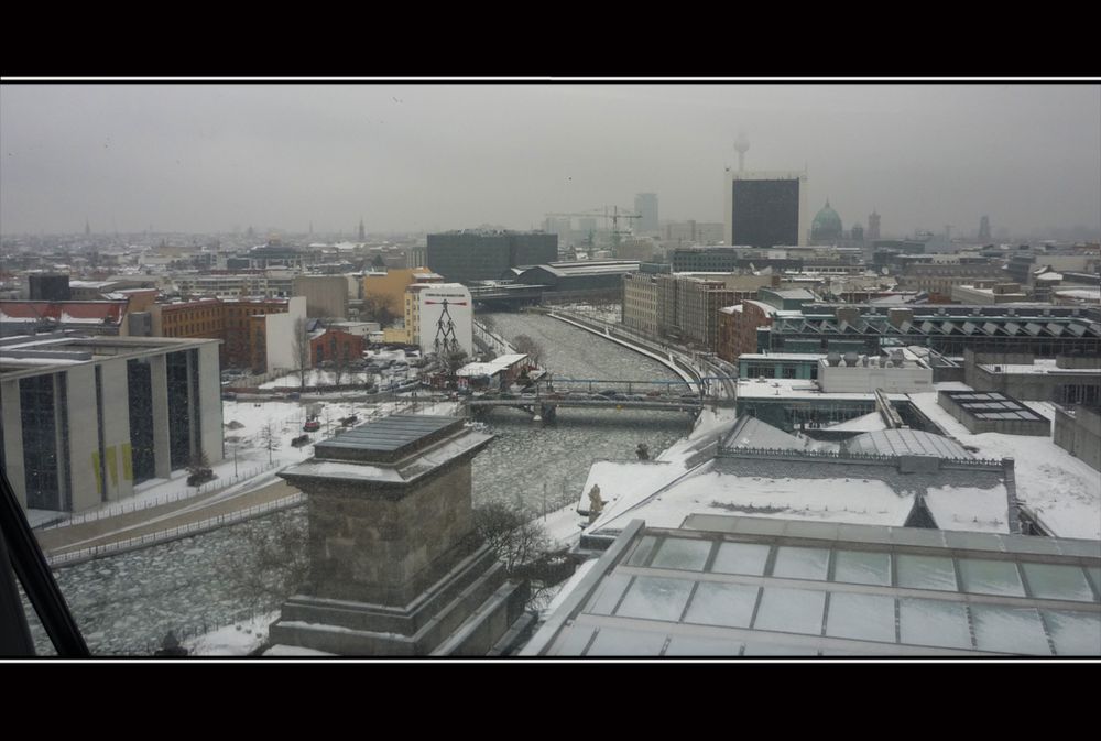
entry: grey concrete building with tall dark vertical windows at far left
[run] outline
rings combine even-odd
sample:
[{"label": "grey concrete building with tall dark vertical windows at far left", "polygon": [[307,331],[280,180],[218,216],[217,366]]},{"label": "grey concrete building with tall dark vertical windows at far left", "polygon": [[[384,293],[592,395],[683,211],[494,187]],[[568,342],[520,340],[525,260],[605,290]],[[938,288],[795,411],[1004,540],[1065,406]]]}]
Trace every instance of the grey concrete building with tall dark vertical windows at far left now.
[{"label": "grey concrete building with tall dark vertical windows at far left", "polygon": [[11,337],[0,465],[28,509],[80,512],[222,459],[218,340]]}]

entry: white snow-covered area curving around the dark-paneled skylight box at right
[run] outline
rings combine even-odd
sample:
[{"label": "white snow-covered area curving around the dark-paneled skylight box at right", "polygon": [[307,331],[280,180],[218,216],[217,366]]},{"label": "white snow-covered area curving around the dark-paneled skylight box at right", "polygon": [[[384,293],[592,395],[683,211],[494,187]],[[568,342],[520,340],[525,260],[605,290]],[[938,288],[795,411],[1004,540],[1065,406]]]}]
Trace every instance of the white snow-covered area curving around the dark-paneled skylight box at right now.
[{"label": "white snow-covered area curving around the dark-paneled skylight box at right", "polygon": [[[941,429],[975,448],[973,455],[979,458],[1013,458],[1017,498],[1056,535],[1101,540],[1101,476],[1055,445],[1050,436],[972,435],[937,404],[936,392],[909,397]],[[1044,414],[1043,406],[1029,406]]]}]

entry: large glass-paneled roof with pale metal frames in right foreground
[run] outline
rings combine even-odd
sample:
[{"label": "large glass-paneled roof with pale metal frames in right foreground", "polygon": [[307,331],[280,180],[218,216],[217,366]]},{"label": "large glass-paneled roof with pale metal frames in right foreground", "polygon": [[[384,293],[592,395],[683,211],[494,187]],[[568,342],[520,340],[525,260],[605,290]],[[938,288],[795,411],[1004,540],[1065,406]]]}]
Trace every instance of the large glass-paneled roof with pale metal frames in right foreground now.
[{"label": "large glass-paneled roof with pale metal frames in right foreground", "polygon": [[636,520],[524,654],[1097,656],[1101,543],[723,515],[647,530]]}]

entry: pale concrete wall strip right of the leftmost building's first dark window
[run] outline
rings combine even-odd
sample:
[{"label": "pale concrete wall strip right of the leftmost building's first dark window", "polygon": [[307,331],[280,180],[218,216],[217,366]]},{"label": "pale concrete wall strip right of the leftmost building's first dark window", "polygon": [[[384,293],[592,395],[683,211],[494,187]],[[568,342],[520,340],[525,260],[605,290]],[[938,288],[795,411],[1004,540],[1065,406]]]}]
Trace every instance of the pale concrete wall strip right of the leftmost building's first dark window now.
[{"label": "pale concrete wall strip right of the leftmost building's first dark window", "polygon": [[[65,371],[68,415],[69,501],[74,512],[84,512],[103,502],[99,491],[99,434],[96,424],[96,369],[91,363]],[[124,404],[124,402],[121,402]],[[58,453],[61,448],[58,448]]]}]

